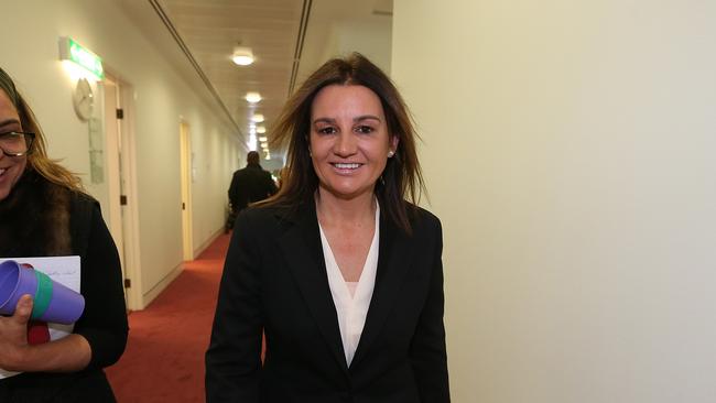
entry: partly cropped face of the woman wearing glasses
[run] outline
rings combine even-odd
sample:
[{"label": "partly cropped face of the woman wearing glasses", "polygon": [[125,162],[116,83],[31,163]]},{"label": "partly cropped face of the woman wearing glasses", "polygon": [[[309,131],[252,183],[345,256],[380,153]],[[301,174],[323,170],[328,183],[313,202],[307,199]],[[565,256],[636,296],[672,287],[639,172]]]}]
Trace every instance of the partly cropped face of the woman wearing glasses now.
[{"label": "partly cropped face of the woman wearing glasses", "polygon": [[[18,109],[8,95],[0,89],[0,134],[11,131],[22,131]],[[0,152],[0,202],[12,190],[28,165],[28,156],[8,156]]]}]

